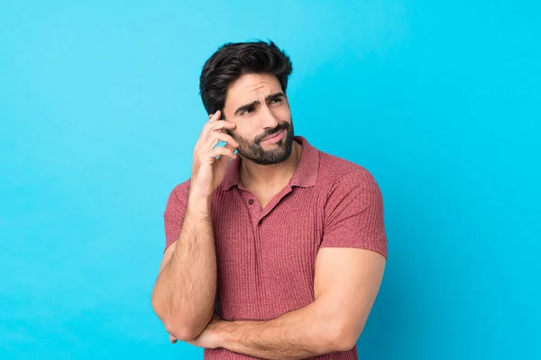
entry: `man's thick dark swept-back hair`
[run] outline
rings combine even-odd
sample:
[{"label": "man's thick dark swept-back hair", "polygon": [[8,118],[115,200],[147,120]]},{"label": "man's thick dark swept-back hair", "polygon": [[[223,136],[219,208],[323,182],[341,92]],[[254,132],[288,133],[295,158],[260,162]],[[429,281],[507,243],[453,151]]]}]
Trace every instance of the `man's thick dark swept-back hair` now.
[{"label": "man's thick dark swept-back hair", "polygon": [[289,56],[274,42],[227,42],[206,60],[199,78],[199,94],[207,113],[224,111],[227,87],[244,74],[276,76],[286,94],[293,71]]}]

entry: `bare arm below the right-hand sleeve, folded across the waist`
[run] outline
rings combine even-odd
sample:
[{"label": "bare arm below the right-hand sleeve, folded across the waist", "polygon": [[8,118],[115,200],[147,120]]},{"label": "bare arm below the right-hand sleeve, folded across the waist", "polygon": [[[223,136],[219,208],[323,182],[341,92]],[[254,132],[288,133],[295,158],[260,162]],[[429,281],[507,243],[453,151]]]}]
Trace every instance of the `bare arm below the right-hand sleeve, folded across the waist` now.
[{"label": "bare arm below the right-hand sleeve, folded across the waist", "polygon": [[380,289],[385,258],[362,248],[325,247],[316,258],[315,301],[268,321],[214,318],[188,343],[265,359],[302,359],[354,347]]}]

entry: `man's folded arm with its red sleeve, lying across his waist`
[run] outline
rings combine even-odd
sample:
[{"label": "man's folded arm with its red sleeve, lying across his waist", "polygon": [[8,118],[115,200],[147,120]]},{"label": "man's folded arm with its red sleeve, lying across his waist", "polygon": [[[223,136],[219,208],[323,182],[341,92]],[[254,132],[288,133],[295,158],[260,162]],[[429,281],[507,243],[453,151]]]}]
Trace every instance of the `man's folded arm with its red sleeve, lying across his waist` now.
[{"label": "man's folded arm with its red sleeve, lying across his waist", "polygon": [[190,343],[265,359],[302,359],[354,347],[379,292],[387,259],[380,188],[359,168],[335,184],[325,211],[314,302],[268,321],[215,318]]}]

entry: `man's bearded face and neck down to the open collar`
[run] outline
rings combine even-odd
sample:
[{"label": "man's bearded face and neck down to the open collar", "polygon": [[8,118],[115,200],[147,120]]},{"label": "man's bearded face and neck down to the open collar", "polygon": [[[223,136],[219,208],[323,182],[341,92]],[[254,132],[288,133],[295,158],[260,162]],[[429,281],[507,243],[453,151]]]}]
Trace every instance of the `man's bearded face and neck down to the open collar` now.
[{"label": "man's bearded face and neck down to the open collar", "polygon": [[[241,182],[264,208],[288,184],[300,157],[301,146],[293,141],[288,96],[276,77],[246,74],[228,88],[224,115],[236,125],[226,132],[239,144]],[[263,140],[280,130],[286,130],[287,136],[279,142]]]}]

